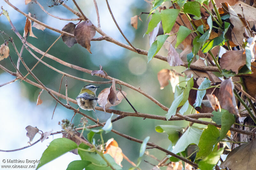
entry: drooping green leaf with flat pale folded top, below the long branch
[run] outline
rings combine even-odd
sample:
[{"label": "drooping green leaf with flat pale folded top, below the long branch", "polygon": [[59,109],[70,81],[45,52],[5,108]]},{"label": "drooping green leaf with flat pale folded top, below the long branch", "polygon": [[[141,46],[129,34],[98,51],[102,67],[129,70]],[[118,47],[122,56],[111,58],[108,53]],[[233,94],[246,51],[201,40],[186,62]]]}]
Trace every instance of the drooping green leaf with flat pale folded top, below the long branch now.
[{"label": "drooping green leaf with flat pale folded top, below the long branch", "polygon": [[175,145],[179,139],[179,133],[183,129],[179,126],[173,125],[158,125],[156,126],[156,131],[159,133],[167,133],[169,140],[172,142],[172,145]]}]

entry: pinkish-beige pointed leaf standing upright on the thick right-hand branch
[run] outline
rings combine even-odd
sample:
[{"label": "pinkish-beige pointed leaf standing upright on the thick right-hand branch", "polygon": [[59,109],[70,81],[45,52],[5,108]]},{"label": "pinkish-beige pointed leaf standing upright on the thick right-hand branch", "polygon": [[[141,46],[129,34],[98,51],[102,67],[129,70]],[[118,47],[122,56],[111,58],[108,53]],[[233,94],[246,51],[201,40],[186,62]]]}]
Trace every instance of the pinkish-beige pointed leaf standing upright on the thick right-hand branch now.
[{"label": "pinkish-beige pointed leaf standing upright on the thick right-hand branch", "polygon": [[183,61],[180,59],[179,53],[177,53],[176,49],[172,46],[172,44],[170,45],[170,48],[168,50],[167,62],[170,64],[170,66],[184,65]]}]

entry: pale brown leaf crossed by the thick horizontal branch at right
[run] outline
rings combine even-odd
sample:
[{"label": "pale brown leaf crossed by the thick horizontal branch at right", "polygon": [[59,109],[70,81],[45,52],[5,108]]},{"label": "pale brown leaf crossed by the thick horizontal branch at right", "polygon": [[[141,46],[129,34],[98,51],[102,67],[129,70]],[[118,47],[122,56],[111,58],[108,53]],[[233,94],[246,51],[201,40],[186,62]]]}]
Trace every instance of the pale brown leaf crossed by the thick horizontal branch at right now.
[{"label": "pale brown leaf crossed by the thick horizontal branch at right", "polygon": [[[204,64],[204,60],[202,59],[198,59],[195,63],[193,63],[194,65],[198,65],[198,66],[205,66]],[[218,78],[217,76],[215,76],[212,72],[209,71],[199,71],[199,70],[192,70],[192,69],[186,69],[184,71],[184,73],[188,76],[188,78],[191,77],[191,75],[194,75],[194,78],[199,78],[199,77],[206,77],[208,78],[212,83],[217,83],[217,82],[221,82],[220,78]]]}]

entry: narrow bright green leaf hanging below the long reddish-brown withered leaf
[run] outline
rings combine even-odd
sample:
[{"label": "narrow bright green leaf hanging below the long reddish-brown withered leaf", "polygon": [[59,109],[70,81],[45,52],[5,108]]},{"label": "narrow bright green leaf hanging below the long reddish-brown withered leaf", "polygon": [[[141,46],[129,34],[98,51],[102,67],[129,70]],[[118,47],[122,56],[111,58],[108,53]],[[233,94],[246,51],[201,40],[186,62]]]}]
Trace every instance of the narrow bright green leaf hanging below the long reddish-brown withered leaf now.
[{"label": "narrow bright green leaf hanging below the long reddish-brown withered leaf", "polygon": [[220,140],[226,137],[228,130],[235,123],[235,117],[231,113],[224,112],[221,116]]}]

